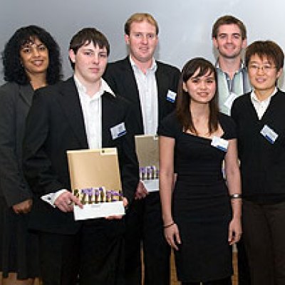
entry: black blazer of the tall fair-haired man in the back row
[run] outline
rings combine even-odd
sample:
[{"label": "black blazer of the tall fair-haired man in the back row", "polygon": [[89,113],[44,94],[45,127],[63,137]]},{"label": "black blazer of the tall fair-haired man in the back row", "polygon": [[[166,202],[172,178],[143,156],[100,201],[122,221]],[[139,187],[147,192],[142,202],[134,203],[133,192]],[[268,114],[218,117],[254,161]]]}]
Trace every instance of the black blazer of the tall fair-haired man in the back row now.
[{"label": "black blazer of the tall fair-haired man in the back row", "polygon": [[[175,103],[167,100],[167,93],[168,90],[177,93],[180,71],[178,68],[161,63],[160,61],[156,61],[156,63],[157,71],[155,72],[155,77],[157,81],[158,123],[160,123],[162,118],[165,118],[167,114],[175,109]],[[133,125],[133,132],[136,135],[144,133],[140,95],[129,57],[115,63],[108,63],[103,77],[114,93],[123,96],[132,103],[136,119],[134,121],[137,123],[137,125]]]}]

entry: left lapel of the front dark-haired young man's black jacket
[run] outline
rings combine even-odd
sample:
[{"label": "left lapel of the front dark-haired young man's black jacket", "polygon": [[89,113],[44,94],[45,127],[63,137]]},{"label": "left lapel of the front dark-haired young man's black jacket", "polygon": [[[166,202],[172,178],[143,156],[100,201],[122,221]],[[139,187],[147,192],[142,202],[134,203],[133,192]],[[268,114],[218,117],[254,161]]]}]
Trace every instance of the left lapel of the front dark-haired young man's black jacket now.
[{"label": "left lapel of the front dark-haired young man's black jacket", "polygon": [[62,85],[63,88],[60,90],[58,101],[61,104],[71,129],[81,143],[81,147],[88,148],[81,102],[73,78],[69,78],[68,81],[63,82]]}]

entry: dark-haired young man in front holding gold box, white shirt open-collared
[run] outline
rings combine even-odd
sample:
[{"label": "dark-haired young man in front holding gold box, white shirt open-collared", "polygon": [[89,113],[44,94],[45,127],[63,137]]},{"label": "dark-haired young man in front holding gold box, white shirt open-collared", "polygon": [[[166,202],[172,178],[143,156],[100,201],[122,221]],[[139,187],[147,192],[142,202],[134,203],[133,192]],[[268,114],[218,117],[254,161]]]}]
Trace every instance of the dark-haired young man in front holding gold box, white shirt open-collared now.
[{"label": "dark-haired young man in front holding gold box, white shirt open-collared", "polygon": [[[117,147],[125,204],[133,199],[138,161],[131,109],[101,78],[108,54],[103,33],[78,31],[69,48],[73,76],[38,90],[28,114],[24,174],[35,196],[31,229],[40,237],[45,285],[76,285],[78,276],[81,285],[124,282],[123,220],[74,220],[73,204],[82,204],[71,193],[66,157],[67,150]],[[122,123],[125,135],[114,138],[111,128]]]}]

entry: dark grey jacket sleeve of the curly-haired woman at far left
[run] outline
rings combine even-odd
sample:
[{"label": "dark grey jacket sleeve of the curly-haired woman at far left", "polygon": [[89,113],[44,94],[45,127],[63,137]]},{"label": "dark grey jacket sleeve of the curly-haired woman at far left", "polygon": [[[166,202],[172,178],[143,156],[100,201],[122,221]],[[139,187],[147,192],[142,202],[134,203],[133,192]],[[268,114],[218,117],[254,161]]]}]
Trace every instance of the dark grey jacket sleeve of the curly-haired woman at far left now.
[{"label": "dark grey jacket sleeve of the curly-haired woman at far left", "polygon": [[22,171],[22,144],[33,88],[5,83],[0,88],[0,195],[8,207],[31,199]]}]

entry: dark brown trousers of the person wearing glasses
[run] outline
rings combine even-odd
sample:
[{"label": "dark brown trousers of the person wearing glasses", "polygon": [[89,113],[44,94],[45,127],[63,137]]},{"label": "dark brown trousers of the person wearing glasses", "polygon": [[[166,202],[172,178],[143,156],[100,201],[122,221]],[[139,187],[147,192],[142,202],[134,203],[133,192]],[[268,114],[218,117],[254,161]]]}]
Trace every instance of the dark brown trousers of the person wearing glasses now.
[{"label": "dark brown trousers of the person wearing glasses", "polygon": [[243,202],[244,244],[252,285],[285,284],[285,202]]}]

